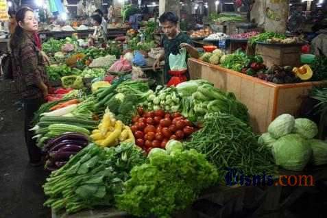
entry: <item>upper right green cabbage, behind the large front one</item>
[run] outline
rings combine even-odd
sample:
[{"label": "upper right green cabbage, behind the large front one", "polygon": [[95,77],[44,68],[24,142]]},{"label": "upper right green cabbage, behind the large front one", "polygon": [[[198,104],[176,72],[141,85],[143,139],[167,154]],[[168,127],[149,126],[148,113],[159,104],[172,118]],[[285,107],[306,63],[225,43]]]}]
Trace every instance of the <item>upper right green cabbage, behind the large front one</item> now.
[{"label": "upper right green cabbage, behind the large front one", "polygon": [[293,132],[300,134],[304,138],[311,139],[318,134],[318,127],[315,122],[305,119],[295,119],[295,126]]}]

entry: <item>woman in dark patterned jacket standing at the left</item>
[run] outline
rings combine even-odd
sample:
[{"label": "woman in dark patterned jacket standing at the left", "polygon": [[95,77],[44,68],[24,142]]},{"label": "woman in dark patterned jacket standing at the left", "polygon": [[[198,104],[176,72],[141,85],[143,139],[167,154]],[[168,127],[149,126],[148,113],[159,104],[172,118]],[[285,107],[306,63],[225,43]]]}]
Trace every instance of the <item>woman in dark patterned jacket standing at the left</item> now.
[{"label": "woman in dark patterned jacket standing at the left", "polygon": [[32,119],[34,112],[45,103],[48,95],[49,78],[45,73],[45,62],[40,49],[34,41],[34,33],[38,31],[38,21],[33,10],[21,8],[16,13],[17,26],[10,38],[12,51],[12,68],[14,79],[24,101],[25,141],[29,154],[29,162],[33,166],[42,164],[42,153],[32,139]]}]

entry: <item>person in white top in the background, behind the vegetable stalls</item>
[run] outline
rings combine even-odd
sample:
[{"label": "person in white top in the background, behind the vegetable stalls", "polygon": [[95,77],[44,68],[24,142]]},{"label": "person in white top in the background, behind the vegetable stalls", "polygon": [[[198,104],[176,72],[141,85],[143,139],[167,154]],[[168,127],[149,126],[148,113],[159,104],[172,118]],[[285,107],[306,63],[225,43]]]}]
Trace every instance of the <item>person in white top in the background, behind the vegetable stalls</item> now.
[{"label": "person in white top in the background, behind the vegetable stalls", "polygon": [[90,35],[88,38],[88,46],[103,45],[106,43],[106,34],[104,28],[101,26],[102,18],[99,14],[93,15],[91,18],[95,25],[95,29],[93,35]]}]

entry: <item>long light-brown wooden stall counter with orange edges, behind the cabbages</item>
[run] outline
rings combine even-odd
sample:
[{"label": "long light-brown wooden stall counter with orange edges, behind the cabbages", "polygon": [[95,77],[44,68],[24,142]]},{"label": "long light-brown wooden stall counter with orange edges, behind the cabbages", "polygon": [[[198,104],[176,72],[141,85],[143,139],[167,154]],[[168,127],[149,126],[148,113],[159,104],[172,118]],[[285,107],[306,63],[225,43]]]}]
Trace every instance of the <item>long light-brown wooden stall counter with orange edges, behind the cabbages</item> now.
[{"label": "long light-brown wooden stall counter with orange edges, behind the cabbages", "polygon": [[191,80],[208,80],[215,87],[234,93],[247,106],[250,123],[256,133],[267,132],[269,123],[280,114],[296,116],[302,97],[308,94],[313,85],[322,84],[274,84],[194,58],[189,58],[188,64]]}]

